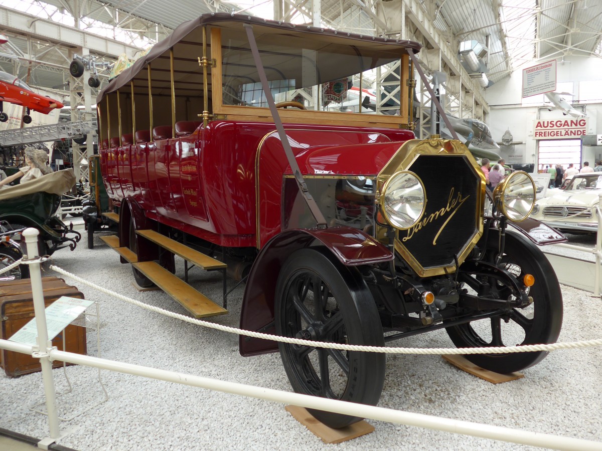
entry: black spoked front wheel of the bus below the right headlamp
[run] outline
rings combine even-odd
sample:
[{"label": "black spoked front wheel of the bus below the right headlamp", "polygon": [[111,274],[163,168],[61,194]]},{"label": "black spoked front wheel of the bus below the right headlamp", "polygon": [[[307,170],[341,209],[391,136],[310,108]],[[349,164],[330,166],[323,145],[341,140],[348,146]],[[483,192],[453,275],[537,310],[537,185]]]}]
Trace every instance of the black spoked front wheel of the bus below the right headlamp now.
[{"label": "black spoked front wheel of the bus below the right headlamp", "polygon": [[[498,235],[490,233],[486,259],[494,262],[498,253]],[[562,292],[554,269],[544,254],[526,239],[506,233],[506,245],[500,266],[517,278],[525,274],[535,277],[535,284],[529,295],[533,302],[524,308],[511,308],[503,315],[490,319],[472,321],[448,327],[447,333],[458,348],[478,348],[483,346],[516,346],[554,343],[562,327]],[[462,268],[460,268],[462,270]],[[473,275],[461,273],[460,280],[478,282]],[[498,298],[512,296],[510,288],[500,281],[488,280]],[[497,372],[511,373],[535,365],[543,360],[547,352],[515,352],[509,354],[474,354],[465,357],[482,368]]]}]

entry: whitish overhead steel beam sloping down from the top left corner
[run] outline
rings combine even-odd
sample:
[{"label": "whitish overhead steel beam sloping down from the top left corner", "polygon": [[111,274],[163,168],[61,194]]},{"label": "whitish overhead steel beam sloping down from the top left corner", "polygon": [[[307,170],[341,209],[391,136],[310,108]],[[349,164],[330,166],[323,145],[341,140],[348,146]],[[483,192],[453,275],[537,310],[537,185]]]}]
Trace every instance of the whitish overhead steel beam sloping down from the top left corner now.
[{"label": "whitish overhead steel beam sloping down from the top left corner", "polygon": [[135,53],[140,51],[138,47],[123,44],[114,39],[2,6],[0,6],[0,28],[5,31],[31,35],[68,48],[88,48],[95,54],[106,55],[115,59],[121,54],[133,58]]}]

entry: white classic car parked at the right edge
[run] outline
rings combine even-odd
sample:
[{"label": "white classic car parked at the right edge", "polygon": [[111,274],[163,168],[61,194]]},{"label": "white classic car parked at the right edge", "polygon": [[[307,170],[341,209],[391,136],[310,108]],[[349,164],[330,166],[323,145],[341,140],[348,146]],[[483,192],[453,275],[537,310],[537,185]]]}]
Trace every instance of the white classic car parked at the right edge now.
[{"label": "white classic car parked at the right edge", "polygon": [[577,174],[566,188],[535,202],[531,217],[567,233],[596,233],[602,172]]}]

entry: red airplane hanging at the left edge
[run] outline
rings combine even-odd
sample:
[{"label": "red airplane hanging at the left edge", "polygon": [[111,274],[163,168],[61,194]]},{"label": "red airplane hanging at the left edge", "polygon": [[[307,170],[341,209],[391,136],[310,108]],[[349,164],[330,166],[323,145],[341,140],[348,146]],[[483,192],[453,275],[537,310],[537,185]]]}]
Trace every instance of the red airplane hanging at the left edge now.
[{"label": "red airplane hanging at the left edge", "polygon": [[23,122],[31,123],[29,111],[38,111],[43,114],[48,114],[55,108],[63,108],[63,103],[58,100],[51,99],[47,96],[40,96],[34,93],[31,88],[20,81],[14,75],[0,71],[0,122],[8,120],[8,114],[2,110],[2,103],[14,103],[22,105],[26,108],[26,114],[23,116]]}]

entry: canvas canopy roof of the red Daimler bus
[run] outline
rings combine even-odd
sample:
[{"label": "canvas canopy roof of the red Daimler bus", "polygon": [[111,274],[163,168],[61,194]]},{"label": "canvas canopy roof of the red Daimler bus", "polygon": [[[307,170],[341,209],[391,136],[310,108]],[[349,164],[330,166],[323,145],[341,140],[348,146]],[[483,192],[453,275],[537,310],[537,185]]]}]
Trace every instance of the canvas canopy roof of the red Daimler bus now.
[{"label": "canvas canopy roof of the red Daimler bus", "polygon": [[[172,35],[155,44],[146,55],[125,69],[101,91],[97,102],[108,93],[120,88],[129,90],[130,82],[134,82],[134,93],[144,94],[148,91],[147,64],[151,64],[151,85],[153,95],[170,95],[170,49],[173,48],[174,80],[176,95],[199,96],[202,94],[202,68],[199,67],[198,57],[202,56],[202,27],[211,25],[223,29],[222,47],[229,50],[243,50],[236,61],[229,61],[227,54],[223,61],[224,78],[232,75],[235,78],[247,78],[247,82],[259,80],[255,77],[255,64],[246,40],[244,23],[253,25],[253,34],[261,52],[262,62],[268,78],[296,78],[300,66],[308,57],[308,52],[316,51],[322,55],[317,58],[317,82],[340,79],[362,70],[394,61],[408,52],[420,51],[420,44],[414,41],[393,40],[391,38],[365,36],[347,32],[337,32],[332,29],[316,28],[306,25],[279,23],[258,17],[241,14],[212,13],[204,14],[196,19],[182,23]],[[208,32],[207,56],[210,55]],[[282,52],[283,46],[287,48]],[[350,56],[355,55],[355,61],[350,64]],[[344,63],[344,64],[343,64]],[[270,75],[271,74],[271,75]]]}]

